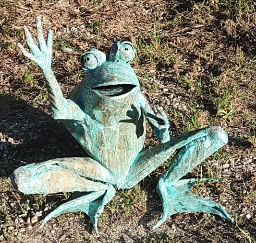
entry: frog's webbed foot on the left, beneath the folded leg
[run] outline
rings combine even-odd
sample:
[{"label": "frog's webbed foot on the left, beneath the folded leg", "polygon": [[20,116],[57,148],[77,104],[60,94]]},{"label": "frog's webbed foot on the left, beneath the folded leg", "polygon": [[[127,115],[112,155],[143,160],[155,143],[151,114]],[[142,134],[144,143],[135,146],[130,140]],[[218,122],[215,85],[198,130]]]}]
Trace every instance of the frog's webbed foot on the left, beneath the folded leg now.
[{"label": "frog's webbed foot on the left, beneath the folded leg", "polygon": [[89,192],[83,196],[63,203],[45,217],[39,228],[42,228],[52,217],[67,212],[83,211],[90,217],[94,230],[98,235],[97,223],[99,215],[104,210],[105,205],[113,198],[115,192],[115,188],[110,185],[107,190]]}]

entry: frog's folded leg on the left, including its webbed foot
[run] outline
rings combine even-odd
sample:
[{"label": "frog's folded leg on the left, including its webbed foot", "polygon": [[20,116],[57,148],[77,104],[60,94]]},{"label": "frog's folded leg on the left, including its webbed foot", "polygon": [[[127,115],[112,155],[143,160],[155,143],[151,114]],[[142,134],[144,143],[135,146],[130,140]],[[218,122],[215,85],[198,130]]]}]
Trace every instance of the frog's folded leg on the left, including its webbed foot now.
[{"label": "frog's folded leg on the left, including its webbed foot", "polygon": [[33,163],[17,168],[10,178],[14,188],[25,194],[82,192],[49,213],[40,227],[54,216],[83,211],[90,217],[98,234],[98,217],[115,195],[109,171],[92,158],[57,158]]}]

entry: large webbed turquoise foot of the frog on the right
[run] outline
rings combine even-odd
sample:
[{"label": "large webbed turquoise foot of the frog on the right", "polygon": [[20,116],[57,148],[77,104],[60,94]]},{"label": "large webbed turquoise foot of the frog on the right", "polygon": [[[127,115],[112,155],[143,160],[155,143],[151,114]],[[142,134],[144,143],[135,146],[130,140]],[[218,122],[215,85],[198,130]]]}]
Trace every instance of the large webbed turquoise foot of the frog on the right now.
[{"label": "large webbed turquoise foot of the frog on the right", "polygon": [[160,221],[153,227],[153,229],[160,226],[171,215],[181,212],[206,212],[215,213],[220,217],[232,221],[229,214],[217,202],[210,199],[200,197],[191,192],[191,187],[196,183],[204,180],[212,180],[203,178],[198,179],[184,179],[179,180],[171,185],[163,178],[158,182],[158,193],[160,195],[163,205],[163,215]]}]

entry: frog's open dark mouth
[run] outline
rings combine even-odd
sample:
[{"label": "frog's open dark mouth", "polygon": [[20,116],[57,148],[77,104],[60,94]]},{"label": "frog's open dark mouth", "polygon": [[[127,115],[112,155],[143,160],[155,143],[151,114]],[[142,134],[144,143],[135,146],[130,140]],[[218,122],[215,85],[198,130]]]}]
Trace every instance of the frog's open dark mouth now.
[{"label": "frog's open dark mouth", "polygon": [[119,85],[99,86],[91,89],[96,90],[99,95],[114,97],[114,96],[120,96],[120,95],[126,94],[130,92],[134,87],[136,86],[132,84],[119,84]]}]

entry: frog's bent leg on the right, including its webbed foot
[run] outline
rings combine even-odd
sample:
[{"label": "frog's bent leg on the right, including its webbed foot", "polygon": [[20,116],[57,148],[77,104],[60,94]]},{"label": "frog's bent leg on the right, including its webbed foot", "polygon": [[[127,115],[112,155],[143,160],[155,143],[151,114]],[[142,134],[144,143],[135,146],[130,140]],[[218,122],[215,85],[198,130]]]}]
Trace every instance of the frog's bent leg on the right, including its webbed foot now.
[{"label": "frog's bent leg on the right, including its webbed foot", "polygon": [[[138,182],[142,177],[146,176],[145,172],[152,172],[177,150],[171,165],[158,182],[157,189],[163,204],[163,215],[154,228],[166,221],[172,214],[179,212],[210,212],[232,220],[218,203],[199,197],[191,192],[191,187],[199,180],[179,180],[204,159],[225,145],[227,141],[228,137],[223,129],[220,127],[207,127],[182,134],[174,140],[145,150],[139,155],[134,167],[131,169],[132,174],[128,175],[126,184],[128,187],[134,186],[135,181]],[[206,179],[204,178],[203,180]]]}]

